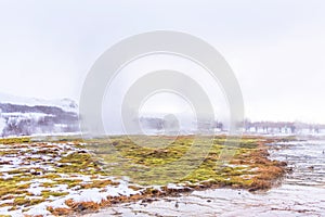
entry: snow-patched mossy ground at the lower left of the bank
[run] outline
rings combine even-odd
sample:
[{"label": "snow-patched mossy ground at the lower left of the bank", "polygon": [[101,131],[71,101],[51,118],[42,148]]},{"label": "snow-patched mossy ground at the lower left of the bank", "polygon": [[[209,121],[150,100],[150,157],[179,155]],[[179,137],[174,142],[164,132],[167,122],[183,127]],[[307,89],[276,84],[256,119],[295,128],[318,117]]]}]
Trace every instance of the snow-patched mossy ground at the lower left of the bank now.
[{"label": "snow-patched mossy ground at the lower left of the bank", "polygon": [[[0,214],[52,216],[51,209],[72,209],[67,201],[100,204],[107,196],[130,196],[144,190],[129,184],[127,178],[94,174],[91,169],[95,168],[90,166],[69,173],[74,165],[62,159],[90,155],[83,145],[74,142],[0,144],[0,184],[8,186],[5,192],[0,191]],[[66,173],[60,168],[67,168]]]}]

